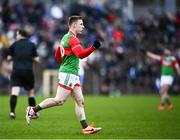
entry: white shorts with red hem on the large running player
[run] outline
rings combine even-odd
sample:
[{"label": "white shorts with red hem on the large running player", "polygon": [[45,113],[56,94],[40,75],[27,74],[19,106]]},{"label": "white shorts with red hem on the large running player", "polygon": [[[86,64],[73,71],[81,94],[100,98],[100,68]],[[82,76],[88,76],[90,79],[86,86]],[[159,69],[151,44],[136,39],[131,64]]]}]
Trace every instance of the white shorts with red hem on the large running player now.
[{"label": "white shorts with red hem on the large running player", "polygon": [[73,90],[74,86],[81,86],[79,81],[79,76],[64,72],[59,72],[59,86]]}]

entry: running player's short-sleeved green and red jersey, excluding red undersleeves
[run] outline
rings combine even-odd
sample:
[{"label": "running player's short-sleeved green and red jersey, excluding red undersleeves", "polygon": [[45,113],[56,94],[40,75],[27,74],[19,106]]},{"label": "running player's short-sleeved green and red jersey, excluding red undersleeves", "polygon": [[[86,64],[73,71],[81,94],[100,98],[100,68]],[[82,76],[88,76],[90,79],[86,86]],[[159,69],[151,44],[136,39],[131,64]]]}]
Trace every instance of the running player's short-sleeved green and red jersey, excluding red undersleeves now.
[{"label": "running player's short-sleeved green and red jersey, excluding red undersleeves", "polygon": [[64,47],[64,56],[59,71],[78,75],[79,58],[72,52],[73,47],[80,44],[78,38],[68,32],[63,36],[60,43]]}]

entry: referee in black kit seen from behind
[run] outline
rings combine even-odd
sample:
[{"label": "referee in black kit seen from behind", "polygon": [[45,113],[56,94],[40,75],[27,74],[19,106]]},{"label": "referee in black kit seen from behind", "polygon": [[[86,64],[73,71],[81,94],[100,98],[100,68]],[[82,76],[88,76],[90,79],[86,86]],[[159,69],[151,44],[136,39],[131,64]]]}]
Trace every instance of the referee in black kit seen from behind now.
[{"label": "referee in black kit seen from behind", "polygon": [[[9,47],[8,60],[13,60],[11,74],[10,114],[15,119],[15,108],[20,88],[27,91],[29,106],[35,106],[33,61],[39,62],[34,43],[28,40],[25,30],[16,30],[16,41]],[[38,117],[38,114],[37,114]]]}]

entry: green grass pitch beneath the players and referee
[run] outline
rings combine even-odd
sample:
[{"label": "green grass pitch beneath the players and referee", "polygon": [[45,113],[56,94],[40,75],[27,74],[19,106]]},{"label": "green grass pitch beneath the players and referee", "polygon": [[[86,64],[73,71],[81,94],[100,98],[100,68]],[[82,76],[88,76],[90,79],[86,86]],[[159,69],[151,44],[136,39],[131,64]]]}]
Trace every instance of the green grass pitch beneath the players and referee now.
[{"label": "green grass pitch beneath the players and referee", "polygon": [[[88,122],[102,131],[82,135],[74,103],[41,111],[28,127],[25,122],[27,98],[19,97],[16,120],[9,119],[9,97],[0,97],[1,139],[161,139],[180,138],[180,97],[171,98],[174,110],[157,111],[158,96],[85,97]],[[38,97],[37,102],[43,100]]]}]

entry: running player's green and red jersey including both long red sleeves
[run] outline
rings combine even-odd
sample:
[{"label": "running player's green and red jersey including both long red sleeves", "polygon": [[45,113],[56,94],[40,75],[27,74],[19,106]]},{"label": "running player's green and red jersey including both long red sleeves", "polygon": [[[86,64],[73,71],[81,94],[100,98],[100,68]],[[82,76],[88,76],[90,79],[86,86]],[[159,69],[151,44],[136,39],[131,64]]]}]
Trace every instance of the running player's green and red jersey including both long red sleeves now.
[{"label": "running player's green and red jersey including both long red sleeves", "polygon": [[78,75],[79,58],[87,57],[94,48],[91,46],[83,49],[79,39],[72,32],[65,34],[60,43],[64,47],[64,56],[61,58],[59,47],[55,52],[55,58],[61,63],[59,71]]}]

